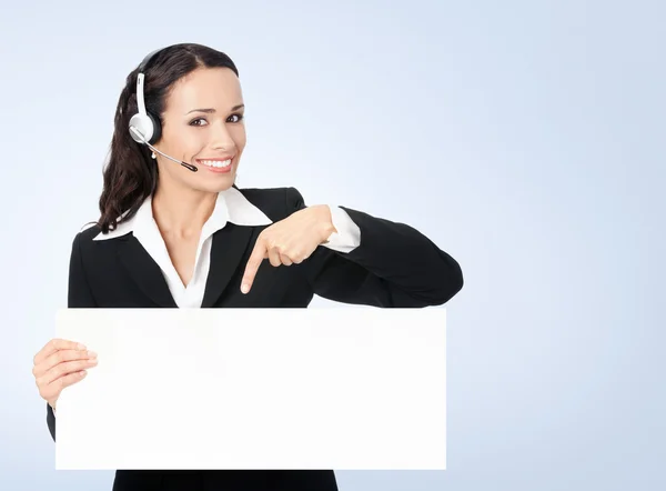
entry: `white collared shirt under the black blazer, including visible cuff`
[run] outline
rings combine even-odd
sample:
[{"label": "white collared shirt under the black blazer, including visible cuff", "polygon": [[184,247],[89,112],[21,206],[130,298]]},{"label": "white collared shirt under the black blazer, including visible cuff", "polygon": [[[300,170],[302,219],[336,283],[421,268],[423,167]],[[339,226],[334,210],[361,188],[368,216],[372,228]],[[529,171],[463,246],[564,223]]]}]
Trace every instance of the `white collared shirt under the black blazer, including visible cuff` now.
[{"label": "white collared shirt under the black blazer, including visible cuff", "polygon": [[[329,242],[322,247],[339,252],[350,252],[361,243],[361,231],[350,216],[339,207],[329,207],[333,232]],[[194,272],[185,287],[181,281],[167,250],[164,239],[158,229],[152,213],[152,199],[149,197],[137,213],[127,222],[121,222],[109,233],[99,233],[93,240],[110,240],[133,232],[143,249],[153,258],[162,270],[175,304],[180,308],[200,308],[203,300],[205,283],[210,271],[211,246],[213,233],[223,229],[228,222],[238,226],[258,227],[273,223],[263,211],[252,204],[235,188],[230,188],[218,194],[213,213],[201,230],[201,238],[194,259]]]}]

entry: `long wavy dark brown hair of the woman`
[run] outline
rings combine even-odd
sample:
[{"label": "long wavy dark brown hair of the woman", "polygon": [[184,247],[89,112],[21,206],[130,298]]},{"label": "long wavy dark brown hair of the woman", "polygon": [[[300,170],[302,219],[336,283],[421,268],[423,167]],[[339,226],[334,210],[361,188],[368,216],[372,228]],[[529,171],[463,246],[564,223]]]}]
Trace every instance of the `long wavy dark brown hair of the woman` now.
[{"label": "long wavy dark brown hair of the woman", "polygon": [[[162,127],[170,89],[198,68],[230,68],[239,76],[234,62],[225,53],[195,43],[164,48],[144,69],[145,109],[160,118]],[[132,218],[143,201],[154,193],[158,183],[158,166],[150,157],[150,149],[135,142],[129,132],[130,118],[139,110],[135,93],[138,76],[139,66],[128,76],[115,110],[113,138],[99,200],[101,216],[98,226],[103,233]]]}]

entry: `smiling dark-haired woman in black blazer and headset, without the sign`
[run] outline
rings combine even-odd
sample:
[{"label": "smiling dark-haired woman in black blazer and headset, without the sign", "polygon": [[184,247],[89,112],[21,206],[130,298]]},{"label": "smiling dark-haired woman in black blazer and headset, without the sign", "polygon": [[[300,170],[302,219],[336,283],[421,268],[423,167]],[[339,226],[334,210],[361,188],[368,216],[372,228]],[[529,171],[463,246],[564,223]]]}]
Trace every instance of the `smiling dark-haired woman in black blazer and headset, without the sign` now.
[{"label": "smiling dark-haired woman in black blazer and headset, without the sign", "polygon": [[[314,294],[422,308],[461,290],[457,262],[406,224],[345,207],[309,207],[294,188],[238,188],[243,113],[236,67],[211,48],[168,47],[130,73],[101,217],[73,240],[70,308],[306,308]],[[67,340],[51,340],[36,354],[53,440],[62,389],[95,364],[94,353]],[[113,489],[337,487],[329,470],[119,470]]]}]

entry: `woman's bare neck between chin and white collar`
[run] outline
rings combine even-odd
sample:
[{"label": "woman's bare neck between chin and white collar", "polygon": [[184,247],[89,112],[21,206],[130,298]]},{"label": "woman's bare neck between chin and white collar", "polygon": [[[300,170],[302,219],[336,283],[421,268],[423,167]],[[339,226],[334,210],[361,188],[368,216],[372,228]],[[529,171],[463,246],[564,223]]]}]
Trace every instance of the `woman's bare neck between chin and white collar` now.
[{"label": "woman's bare neck between chin and white collar", "polygon": [[218,193],[183,189],[160,182],[152,199],[152,212],[165,236],[189,239],[198,237],[213,213]]}]

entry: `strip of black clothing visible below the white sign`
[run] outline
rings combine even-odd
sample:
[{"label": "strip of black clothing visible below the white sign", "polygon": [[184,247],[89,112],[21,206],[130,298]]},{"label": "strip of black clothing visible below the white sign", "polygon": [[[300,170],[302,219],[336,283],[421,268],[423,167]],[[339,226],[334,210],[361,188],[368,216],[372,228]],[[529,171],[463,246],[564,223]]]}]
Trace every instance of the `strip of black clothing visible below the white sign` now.
[{"label": "strip of black clothing visible below the white sign", "polygon": [[339,491],[330,470],[118,470],[113,491]]}]

